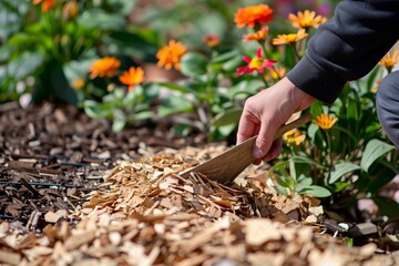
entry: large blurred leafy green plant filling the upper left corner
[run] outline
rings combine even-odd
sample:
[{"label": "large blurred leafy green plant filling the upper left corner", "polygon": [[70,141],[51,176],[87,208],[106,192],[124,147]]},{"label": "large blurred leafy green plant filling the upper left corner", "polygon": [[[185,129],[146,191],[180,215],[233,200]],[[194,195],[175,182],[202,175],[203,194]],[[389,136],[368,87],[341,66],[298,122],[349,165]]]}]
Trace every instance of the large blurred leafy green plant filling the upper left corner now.
[{"label": "large blurred leafy green plant filling the upper left corner", "polygon": [[[76,104],[104,96],[108,84],[86,79],[93,61],[103,55],[125,64],[154,60],[156,32],[129,23],[134,6],[131,0],[1,0],[11,27],[0,28],[0,101],[24,92],[33,102]],[[81,90],[73,89],[76,80],[83,81]]]}]

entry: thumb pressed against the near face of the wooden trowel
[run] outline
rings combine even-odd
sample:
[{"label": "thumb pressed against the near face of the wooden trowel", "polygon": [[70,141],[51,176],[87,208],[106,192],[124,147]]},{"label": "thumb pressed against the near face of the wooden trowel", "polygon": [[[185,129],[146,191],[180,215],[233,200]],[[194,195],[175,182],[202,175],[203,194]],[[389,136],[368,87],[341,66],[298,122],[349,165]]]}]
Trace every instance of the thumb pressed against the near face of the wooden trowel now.
[{"label": "thumb pressed against the near face of the wooden trowel", "polygon": [[276,126],[274,126],[272,123],[263,123],[260,125],[259,134],[256,137],[256,142],[253,149],[254,157],[263,158],[266,156],[273,144],[276,130]]}]

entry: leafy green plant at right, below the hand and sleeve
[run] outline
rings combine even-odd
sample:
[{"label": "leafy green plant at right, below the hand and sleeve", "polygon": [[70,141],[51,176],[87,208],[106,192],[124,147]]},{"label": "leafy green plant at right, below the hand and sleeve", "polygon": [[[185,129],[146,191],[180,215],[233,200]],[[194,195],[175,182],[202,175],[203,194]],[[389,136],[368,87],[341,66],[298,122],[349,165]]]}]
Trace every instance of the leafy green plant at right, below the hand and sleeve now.
[{"label": "leafy green plant at right, below the hand and sleeve", "polygon": [[[398,215],[399,204],[379,195],[380,190],[399,173],[398,151],[381,133],[375,93],[371,92],[383,71],[377,66],[368,76],[349,83],[330,106],[319,102],[311,106],[314,117],[329,113],[337,117],[337,122],[328,130],[310,124],[305,129],[307,139],[304,143],[285,146],[282,162],[273,166],[279,191],[288,188],[303,193],[299,185],[288,186],[280,180],[288,176],[295,180],[295,175],[303,176],[303,180],[311,177],[324,190],[308,194],[330,196],[336,208],[355,206],[360,198],[371,198],[382,214]],[[288,162],[289,172],[284,165]]]}]

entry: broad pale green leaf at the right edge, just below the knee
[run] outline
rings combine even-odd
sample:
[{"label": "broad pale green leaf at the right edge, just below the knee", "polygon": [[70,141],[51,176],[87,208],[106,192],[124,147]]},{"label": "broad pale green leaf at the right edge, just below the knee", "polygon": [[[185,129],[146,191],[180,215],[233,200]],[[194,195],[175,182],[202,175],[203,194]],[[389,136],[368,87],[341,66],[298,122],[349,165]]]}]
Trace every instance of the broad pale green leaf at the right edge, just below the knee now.
[{"label": "broad pale green leaf at the right edge, just below the knee", "polygon": [[379,157],[392,151],[393,149],[393,145],[390,145],[380,140],[375,139],[369,141],[366,145],[365,152],[362,153],[362,157],[360,161],[361,168],[365,172],[368,172],[369,167],[374,162],[376,162]]}]

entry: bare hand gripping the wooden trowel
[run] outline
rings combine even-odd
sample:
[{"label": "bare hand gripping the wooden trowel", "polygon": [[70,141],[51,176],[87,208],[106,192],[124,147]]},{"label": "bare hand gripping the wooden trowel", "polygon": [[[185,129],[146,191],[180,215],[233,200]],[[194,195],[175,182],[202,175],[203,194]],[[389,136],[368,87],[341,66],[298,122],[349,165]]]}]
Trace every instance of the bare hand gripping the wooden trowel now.
[{"label": "bare hand gripping the wooden trowel", "polygon": [[258,135],[254,146],[255,164],[282,153],[282,140],[273,142],[277,129],[295,112],[307,109],[315,99],[295,86],[287,78],[246,100],[239,120],[237,144]]}]

